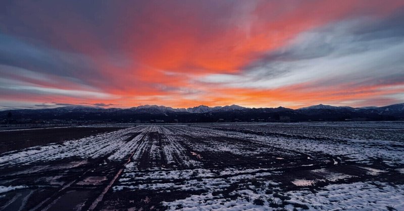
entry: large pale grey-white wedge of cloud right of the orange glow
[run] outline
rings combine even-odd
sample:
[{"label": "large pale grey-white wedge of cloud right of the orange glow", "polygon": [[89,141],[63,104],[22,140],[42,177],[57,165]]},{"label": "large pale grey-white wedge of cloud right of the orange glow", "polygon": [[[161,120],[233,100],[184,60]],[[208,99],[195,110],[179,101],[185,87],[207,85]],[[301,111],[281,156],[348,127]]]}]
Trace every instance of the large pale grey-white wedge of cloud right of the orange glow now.
[{"label": "large pale grey-white wedge of cloud right of the orange glow", "polygon": [[404,13],[376,23],[367,18],[330,23],[300,33],[285,47],[244,66],[239,75],[201,81],[268,89],[306,82],[317,89],[396,84],[404,78],[403,25]]}]

